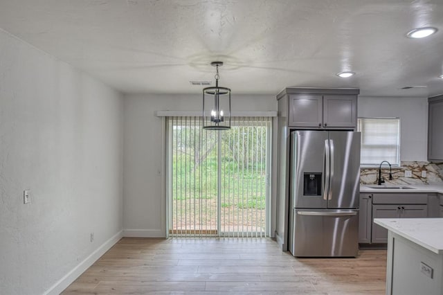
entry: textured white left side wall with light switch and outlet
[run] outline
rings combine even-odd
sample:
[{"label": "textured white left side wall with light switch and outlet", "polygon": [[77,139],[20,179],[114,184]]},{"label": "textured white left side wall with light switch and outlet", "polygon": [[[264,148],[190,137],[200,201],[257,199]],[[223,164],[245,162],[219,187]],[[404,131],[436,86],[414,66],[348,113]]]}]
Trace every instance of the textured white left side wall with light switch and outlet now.
[{"label": "textured white left side wall with light switch and outlet", "polygon": [[0,294],[47,292],[121,235],[122,109],[116,91],[0,30]]}]

